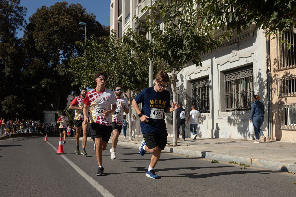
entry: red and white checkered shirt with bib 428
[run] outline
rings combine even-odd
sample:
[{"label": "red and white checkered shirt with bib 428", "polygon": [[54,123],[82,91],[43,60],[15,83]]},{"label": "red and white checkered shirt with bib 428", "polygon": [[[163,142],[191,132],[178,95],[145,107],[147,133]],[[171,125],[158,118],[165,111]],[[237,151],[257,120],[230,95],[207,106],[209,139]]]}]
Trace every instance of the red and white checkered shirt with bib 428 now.
[{"label": "red and white checkered shirt with bib 428", "polygon": [[112,125],[111,114],[108,117],[103,115],[104,110],[110,110],[111,105],[117,102],[115,94],[110,89],[105,88],[103,92],[97,92],[96,89],[88,92],[83,103],[90,105],[89,123],[99,123],[102,125]]}]

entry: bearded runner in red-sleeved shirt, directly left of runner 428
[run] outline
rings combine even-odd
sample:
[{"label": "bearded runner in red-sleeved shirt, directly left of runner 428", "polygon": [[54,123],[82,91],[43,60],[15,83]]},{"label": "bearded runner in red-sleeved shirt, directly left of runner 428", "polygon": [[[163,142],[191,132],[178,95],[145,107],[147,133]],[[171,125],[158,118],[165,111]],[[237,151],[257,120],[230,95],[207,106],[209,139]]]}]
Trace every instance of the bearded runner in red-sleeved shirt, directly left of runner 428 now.
[{"label": "bearded runner in red-sleeved shirt, directly left of runner 428", "polygon": [[83,131],[83,138],[82,138],[82,150],[81,150],[81,154],[83,155],[87,155],[86,151],[85,151],[85,146],[86,146],[86,141],[87,141],[87,129],[89,127],[89,123],[87,122],[87,124],[82,124],[84,121],[84,115],[83,115],[83,106],[84,106],[84,98],[86,96],[87,93],[87,89],[86,88],[82,88],[81,89],[81,96],[79,97],[75,97],[70,106],[69,109],[70,110],[75,110],[75,117],[74,117],[74,125],[76,127],[76,149],[75,152],[76,154],[80,154],[80,150],[79,150],[79,137],[80,137],[80,133],[81,133],[81,126],[82,126],[82,131]]}]

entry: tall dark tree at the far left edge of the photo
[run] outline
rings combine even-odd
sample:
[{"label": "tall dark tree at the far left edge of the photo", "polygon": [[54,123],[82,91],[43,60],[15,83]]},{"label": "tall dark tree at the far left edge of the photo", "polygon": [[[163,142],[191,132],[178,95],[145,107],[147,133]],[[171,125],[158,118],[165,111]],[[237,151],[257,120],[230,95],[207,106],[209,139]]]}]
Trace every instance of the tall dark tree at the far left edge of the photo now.
[{"label": "tall dark tree at the far left edge of the photo", "polygon": [[[15,81],[21,76],[21,68],[24,64],[22,40],[16,37],[16,30],[25,26],[25,13],[27,9],[20,6],[20,0],[0,1],[0,112],[8,117],[14,117],[24,104],[14,94],[18,87]],[[13,90],[13,91],[12,91]],[[19,96],[19,95],[18,95]],[[11,106],[15,102],[15,106]],[[10,108],[10,109],[9,109]]]}]

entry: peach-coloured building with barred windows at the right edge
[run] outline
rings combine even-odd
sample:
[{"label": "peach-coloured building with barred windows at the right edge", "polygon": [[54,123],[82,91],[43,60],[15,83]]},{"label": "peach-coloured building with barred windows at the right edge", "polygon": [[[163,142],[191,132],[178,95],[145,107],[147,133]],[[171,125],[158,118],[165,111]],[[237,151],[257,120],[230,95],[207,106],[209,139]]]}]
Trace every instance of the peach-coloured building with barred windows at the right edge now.
[{"label": "peach-coloured building with barred windows at the right edge", "polygon": [[[289,50],[287,43],[291,44]],[[296,34],[285,32],[270,41],[272,115],[276,140],[296,141]]]}]

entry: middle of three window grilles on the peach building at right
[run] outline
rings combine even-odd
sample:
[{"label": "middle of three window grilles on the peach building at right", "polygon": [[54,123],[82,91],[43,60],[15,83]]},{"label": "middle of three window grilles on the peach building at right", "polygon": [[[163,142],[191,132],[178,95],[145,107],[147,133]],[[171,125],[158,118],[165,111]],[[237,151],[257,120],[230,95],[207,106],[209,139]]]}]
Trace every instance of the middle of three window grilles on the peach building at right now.
[{"label": "middle of three window grilles on the peach building at right", "polygon": [[296,75],[277,78],[278,96],[296,95]]}]

